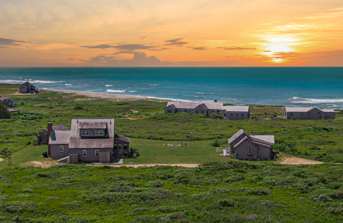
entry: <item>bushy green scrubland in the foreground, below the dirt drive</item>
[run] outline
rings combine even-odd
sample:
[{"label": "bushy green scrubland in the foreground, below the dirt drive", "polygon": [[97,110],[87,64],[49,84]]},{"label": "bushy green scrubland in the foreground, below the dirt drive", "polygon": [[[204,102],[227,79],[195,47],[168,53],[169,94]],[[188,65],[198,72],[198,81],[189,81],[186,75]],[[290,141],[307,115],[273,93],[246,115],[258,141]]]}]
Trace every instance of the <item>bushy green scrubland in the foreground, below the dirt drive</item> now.
[{"label": "bushy green scrubland in the foreground, below the dirt drive", "polygon": [[343,166],[82,164],[0,170],[0,222],[342,222]]}]

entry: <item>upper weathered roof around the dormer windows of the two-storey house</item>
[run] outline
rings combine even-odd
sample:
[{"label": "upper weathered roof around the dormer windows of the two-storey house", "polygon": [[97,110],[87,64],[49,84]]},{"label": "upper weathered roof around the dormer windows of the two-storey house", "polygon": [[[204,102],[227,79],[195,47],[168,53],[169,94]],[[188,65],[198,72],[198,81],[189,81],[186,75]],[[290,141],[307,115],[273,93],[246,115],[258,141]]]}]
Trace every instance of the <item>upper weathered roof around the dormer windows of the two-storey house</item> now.
[{"label": "upper weathered roof around the dormer windows of the two-storey house", "polygon": [[[80,124],[82,123],[82,124]],[[71,119],[71,134],[70,137],[80,137],[80,128],[79,124],[85,128],[106,128],[104,125],[107,125],[107,132],[108,136],[113,136],[114,137],[114,118],[95,118],[95,119],[78,119],[78,118],[73,118]]]}]

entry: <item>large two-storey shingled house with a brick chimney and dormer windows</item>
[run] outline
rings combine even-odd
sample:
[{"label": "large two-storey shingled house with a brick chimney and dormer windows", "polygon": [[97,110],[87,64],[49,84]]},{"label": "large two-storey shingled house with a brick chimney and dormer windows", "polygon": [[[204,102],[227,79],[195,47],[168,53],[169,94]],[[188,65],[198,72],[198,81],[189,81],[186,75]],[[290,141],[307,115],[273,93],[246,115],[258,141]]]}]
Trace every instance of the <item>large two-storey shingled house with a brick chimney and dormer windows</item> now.
[{"label": "large two-storey shingled house with a brick chimney and dormer windows", "polygon": [[76,156],[77,161],[110,162],[113,156],[130,155],[130,138],[114,133],[113,118],[74,118],[70,131],[55,131],[48,123],[48,135],[48,154],[53,159]]}]

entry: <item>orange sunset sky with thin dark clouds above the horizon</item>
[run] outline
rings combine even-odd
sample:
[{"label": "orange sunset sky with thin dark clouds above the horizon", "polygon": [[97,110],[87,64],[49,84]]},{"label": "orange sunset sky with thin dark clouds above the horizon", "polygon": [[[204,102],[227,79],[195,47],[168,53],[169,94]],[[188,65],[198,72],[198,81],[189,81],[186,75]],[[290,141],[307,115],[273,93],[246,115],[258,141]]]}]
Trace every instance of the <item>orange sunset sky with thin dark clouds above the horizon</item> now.
[{"label": "orange sunset sky with thin dark clouds above the horizon", "polygon": [[343,66],[343,0],[1,0],[0,66]]}]

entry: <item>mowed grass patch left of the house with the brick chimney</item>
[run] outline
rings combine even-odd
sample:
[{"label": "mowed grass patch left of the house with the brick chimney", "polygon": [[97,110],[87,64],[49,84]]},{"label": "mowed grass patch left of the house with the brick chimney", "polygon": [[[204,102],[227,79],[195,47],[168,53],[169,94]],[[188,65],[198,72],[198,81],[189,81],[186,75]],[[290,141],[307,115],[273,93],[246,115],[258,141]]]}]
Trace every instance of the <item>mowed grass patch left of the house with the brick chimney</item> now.
[{"label": "mowed grass patch left of the house with the brick chimney", "polygon": [[[12,164],[10,164],[10,166],[20,166],[23,163],[30,161],[45,161],[47,158],[42,156],[42,153],[45,151],[48,151],[48,145],[26,146],[24,149],[13,153]],[[0,162],[0,169],[4,167],[8,167],[8,158],[4,158],[4,160]]]}]

